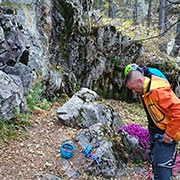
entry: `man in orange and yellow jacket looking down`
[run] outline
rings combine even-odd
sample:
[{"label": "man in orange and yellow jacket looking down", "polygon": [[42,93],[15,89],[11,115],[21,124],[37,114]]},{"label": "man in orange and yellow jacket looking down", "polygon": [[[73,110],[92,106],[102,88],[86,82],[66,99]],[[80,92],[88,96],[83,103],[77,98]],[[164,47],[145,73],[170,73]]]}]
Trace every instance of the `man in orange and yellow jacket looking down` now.
[{"label": "man in orange and yellow jacket looking down", "polygon": [[137,70],[131,70],[124,83],[140,96],[148,117],[154,179],[170,180],[175,146],[180,140],[180,99],[167,80],[154,75],[145,77]]}]

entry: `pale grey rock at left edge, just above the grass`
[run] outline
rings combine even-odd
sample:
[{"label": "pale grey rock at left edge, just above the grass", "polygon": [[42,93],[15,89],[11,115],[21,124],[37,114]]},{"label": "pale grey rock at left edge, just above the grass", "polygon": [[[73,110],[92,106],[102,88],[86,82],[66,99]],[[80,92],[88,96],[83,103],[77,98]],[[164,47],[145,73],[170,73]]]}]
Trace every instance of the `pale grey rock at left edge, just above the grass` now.
[{"label": "pale grey rock at left edge, just above the grass", "polygon": [[22,81],[18,76],[0,71],[0,119],[8,120],[15,113],[27,111]]}]

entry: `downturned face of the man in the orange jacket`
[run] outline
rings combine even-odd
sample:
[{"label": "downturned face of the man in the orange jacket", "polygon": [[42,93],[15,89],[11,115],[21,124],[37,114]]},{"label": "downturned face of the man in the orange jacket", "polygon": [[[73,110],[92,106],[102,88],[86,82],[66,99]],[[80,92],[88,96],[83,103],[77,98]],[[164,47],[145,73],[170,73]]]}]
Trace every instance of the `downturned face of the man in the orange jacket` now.
[{"label": "downturned face of the man in the orange jacket", "polygon": [[134,94],[142,95],[143,94],[143,82],[142,80],[129,81],[126,84],[126,87],[130,89]]}]

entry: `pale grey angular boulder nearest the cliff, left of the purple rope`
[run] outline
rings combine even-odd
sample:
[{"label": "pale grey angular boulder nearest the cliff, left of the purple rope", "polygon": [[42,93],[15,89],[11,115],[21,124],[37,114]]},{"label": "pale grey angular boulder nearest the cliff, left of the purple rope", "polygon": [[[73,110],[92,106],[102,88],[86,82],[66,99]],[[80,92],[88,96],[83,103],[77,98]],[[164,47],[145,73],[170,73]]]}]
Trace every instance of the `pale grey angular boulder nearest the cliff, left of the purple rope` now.
[{"label": "pale grey angular boulder nearest the cliff, left of the purple rope", "polygon": [[79,128],[87,128],[100,122],[112,126],[116,131],[124,124],[119,114],[100,101],[99,95],[88,88],[81,88],[58,108],[57,117],[63,124]]}]

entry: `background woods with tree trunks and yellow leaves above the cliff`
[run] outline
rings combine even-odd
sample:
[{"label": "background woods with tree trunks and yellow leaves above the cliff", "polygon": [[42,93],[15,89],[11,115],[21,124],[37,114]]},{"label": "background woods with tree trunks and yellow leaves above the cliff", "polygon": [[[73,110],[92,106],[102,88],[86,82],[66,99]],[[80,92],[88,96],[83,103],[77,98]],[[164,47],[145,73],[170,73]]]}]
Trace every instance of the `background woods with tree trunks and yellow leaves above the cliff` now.
[{"label": "background woods with tree trunks and yellow leaves above the cliff", "polygon": [[[167,52],[167,43],[175,38],[170,55],[178,56],[180,43],[179,23],[177,23],[180,13],[179,5],[179,0],[94,0],[93,8],[106,18],[103,22],[110,23],[112,20],[113,25],[118,28],[123,25],[128,26],[129,32],[128,27],[119,29],[125,30],[128,36],[131,34],[130,37],[134,37],[135,40],[166,36],[164,39],[159,39],[158,42],[159,47],[163,47],[161,48],[163,52]],[[111,20],[107,20],[108,17]],[[160,33],[158,33],[159,30]]]}]

